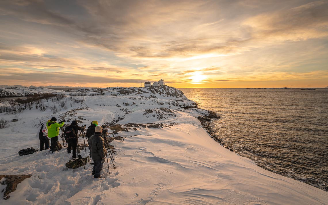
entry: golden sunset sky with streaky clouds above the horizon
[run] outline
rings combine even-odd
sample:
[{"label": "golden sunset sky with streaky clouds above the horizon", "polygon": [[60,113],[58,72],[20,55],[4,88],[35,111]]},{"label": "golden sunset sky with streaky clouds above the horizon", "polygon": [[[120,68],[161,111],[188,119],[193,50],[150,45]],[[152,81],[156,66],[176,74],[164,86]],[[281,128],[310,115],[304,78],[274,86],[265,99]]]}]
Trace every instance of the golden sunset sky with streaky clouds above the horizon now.
[{"label": "golden sunset sky with streaky clouds above the horizon", "polygon": [[327,56],[327,0],[0,1],[0,85],[318,88]]}]

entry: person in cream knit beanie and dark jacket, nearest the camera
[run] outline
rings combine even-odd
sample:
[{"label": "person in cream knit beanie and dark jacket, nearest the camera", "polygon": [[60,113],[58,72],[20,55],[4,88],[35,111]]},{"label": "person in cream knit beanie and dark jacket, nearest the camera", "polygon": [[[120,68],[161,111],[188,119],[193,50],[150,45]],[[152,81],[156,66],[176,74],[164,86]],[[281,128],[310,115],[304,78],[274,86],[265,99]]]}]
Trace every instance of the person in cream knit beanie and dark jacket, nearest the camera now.
[{"label": "person in cream knit beanie and dark jacket, nearest the camera", "polygon": [[97,126],[95,128],[95,133],[89,138],[89,149],[91,158],[94,162],[92,170],[92,175],[94,175],[94,178],[100,177],[100,172],[107,154],[104,139],[102,138],[101,133],[102,127]]}]

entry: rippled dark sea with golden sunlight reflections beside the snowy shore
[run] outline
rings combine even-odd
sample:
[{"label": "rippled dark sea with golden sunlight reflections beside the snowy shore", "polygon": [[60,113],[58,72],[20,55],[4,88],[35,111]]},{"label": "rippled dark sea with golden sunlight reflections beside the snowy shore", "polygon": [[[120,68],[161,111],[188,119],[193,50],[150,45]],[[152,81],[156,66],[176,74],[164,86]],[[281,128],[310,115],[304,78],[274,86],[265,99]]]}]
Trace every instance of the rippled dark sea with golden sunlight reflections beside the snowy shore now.
[{"label": "rippled dark sea with golden sunlight reflections beside the snowy shore", "polygon": [[179,88],[226,148],[328,192],[328,89]]}]

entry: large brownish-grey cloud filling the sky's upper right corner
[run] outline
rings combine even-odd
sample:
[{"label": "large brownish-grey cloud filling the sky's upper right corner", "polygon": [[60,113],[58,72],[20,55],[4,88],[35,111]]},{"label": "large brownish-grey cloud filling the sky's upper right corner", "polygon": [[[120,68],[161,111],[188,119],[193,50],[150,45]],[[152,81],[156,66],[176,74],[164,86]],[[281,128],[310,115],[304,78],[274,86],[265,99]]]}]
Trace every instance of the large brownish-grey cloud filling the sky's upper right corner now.
[{"label": "large brownish-grey cloud filling the sky's upper right corner", "polygon": [[328,36],[328,3],[316,1],[250,17],[243,22],[252,38],[300,41]]}]

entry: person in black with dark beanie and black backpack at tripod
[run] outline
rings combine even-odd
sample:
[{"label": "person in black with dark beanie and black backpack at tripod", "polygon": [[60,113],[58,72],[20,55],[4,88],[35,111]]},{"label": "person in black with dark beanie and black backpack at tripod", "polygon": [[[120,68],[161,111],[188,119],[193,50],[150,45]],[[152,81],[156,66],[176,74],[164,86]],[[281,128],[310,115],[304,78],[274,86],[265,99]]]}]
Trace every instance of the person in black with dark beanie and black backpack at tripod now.
[{"label": "person in black with dark beanie and black backpack at tripod", "polygon": [[78,126],[76,121],[73,120],[71,125],[67,126],[65,128],[65,140],[68,144],[67,146],[67,153],[71,153],[71,148],[73,149],[73,156],[72,158],[76,158],[76,147],[77,147],[77,141],[78,141],[78,130],[84,130],[87,127],[87,125],[84,125],[82,127]]}]

